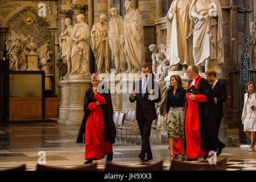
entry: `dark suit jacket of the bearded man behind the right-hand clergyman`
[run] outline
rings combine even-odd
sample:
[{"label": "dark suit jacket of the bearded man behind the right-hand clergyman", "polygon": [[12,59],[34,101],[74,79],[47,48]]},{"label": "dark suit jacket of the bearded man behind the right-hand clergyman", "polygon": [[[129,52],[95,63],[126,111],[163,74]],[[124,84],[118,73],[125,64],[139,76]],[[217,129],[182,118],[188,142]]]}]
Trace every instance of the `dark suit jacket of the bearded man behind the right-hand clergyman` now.
[{"label": "dark suit jacket of the bearded man behind the right-hand clergyman", "polygon": [[224,85],[220,80],[217,81],[216,85],[213,88],[213,97],[217,98],[217,104],[215,103],[215,101],[213,101],[214,116],[216,118],[223,118],[223,102],[226,102],[226,85]]}]

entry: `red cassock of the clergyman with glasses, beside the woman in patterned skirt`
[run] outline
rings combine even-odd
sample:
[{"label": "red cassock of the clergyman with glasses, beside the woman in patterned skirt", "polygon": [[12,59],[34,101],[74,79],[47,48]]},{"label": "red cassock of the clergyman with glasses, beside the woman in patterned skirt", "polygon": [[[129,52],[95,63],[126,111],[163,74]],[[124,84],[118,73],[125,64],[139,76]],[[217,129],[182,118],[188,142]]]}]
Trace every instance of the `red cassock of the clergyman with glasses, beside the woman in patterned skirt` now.
[{"label": "red cassock of the clergyman with glasses, beside the woman in patterned skirt", "polygon": [[[197,77],[195,81],[195,88],[198,89],[199,80],[201,77]],[[189,84],[190,88],[192,84]],[[205,150],[200,147],[201,137],[199,131],[199,109],[198,102],[206,102],[207,98],[205,95],[195,95],[196,99],[192,101],[189,98],[188,93],[186,94],[187,98],[187,111],[185,116],[185,137],[186,137],[186,158],[189,159],[198,159],[200,156],[207,155],[209,150]]]}]

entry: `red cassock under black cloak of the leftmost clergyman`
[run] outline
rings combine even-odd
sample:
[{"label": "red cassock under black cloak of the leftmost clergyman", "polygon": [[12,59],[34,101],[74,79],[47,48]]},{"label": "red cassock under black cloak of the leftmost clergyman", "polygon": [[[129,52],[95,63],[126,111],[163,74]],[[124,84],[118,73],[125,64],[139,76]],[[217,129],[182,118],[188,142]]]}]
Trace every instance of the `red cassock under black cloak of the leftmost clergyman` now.
[{"label": "red cassock under black cloak of the leftmost clergyman", "polygon": [[[96,93],[94,98],[101,105],[106,104],[105,98],[100,94]],[[112,143],[104,141],[104,117],[101,105],[96,106],[96,102],[91,102],[87,107],[90,114],[85,126],[85,160],[88,158],[100,160],[105,154],[113,152]]]}]

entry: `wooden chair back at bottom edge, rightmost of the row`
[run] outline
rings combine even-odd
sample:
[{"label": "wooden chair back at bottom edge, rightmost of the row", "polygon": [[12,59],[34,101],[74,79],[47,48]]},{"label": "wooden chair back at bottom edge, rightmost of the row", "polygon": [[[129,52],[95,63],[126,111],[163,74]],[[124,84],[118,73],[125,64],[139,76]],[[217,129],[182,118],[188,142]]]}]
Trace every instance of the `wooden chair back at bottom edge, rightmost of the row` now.
[{"label": "wooden chair back at bottom edge, rightmost of the row", "polygon": [[205,162],[180,162],[172,160],[170,171],[226,171],[226,158],[217,161],[217,164]]}]

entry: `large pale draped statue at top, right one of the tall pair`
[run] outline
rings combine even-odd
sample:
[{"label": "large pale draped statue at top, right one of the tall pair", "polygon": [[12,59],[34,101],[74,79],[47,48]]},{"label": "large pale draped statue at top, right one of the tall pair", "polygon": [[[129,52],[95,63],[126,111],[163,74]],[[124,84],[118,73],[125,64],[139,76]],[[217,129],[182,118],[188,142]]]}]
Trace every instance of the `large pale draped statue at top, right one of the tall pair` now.
[{"label": "large pale draped statue at top, right one of the tall pair", "polygon": [[218,0],[193,0],[189,16],[195,23],[193,29],[195,65],[205,65],[205,71],[209,68],[216,70],[216,65],[224,62],[220,2]]}]

